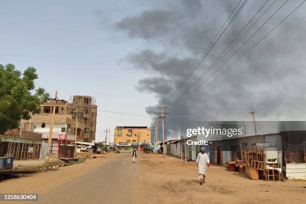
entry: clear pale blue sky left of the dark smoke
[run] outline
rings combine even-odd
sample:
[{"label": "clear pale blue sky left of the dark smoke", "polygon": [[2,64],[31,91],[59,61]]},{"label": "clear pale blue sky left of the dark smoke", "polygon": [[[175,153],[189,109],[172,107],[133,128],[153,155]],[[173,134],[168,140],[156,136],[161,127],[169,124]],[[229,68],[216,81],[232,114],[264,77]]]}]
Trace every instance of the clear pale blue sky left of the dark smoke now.
[{"label": "clear pale blue sky left of the dark smoke", "polygon": [[[19,70],[35,66],[36,82],[60,99],[90,95],[98,109],[146,114],[155,101],[135,88],[145,72],[120,64],[137,40],[125,40],[111,23],[141,9],[127,1],[111,0],[0,0],[0,57]],[[132,2],[132,1],[130,1]],[[128,8],[128,9],[127,9]],[[0,61],[0,63],[5,63]],[[148,117],[107,112],[97,114],[97,140],[115,125],[148,125]]]}]

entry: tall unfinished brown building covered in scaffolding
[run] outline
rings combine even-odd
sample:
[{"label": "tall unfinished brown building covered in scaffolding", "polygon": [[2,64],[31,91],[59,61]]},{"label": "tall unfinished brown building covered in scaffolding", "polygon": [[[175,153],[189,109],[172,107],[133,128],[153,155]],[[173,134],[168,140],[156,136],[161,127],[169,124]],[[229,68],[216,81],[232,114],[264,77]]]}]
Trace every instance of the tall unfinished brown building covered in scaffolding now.
[{"label": "tall unfinished brown building covered in scaffolding", "polygon": [[97,106],[95,98],[87,95],[74,95],[69,99],[69,108],[72,112],[78,112],[79,120],[84,124],[84,141],[95,140]]}]

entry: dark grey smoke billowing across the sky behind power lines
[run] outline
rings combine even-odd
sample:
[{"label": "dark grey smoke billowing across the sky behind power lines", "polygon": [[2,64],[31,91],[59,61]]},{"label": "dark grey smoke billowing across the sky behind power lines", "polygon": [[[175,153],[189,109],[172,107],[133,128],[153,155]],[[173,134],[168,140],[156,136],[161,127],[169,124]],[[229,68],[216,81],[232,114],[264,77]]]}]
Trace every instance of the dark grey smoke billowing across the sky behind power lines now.
[{"label": "dark grey smoke billowing across the sky behind power lines", "polygon": [[[123,58],[123,64],[147,73],[146,77],[138,80],[135,88],[140,92],[154,93],[160,103],[165,101],[181,84],[239,1],[162,2],[156,3],[155,8],[126,16],[114,25],[129,39],[141,40],[144,44],[143,49],[131,49]],[[224,74],[206,86],[277,25],[301,1],[286,2],[244,46],[221,66],[285,1],[273,2],[274,0],[246,1],[190,78],[172,100],[167,101],[166,111],[170,112],[165,120],[165,126],[169,129],[166,132],[167,139],[178,137],[178,134],[171,132],[179,131],[181,120],[250,120],[251,115],[248,112],[252,107],[255,108],[257,120],[304,120],[306,118],[306,114],[302,113],[270,111],[306,112],[303,102],[306,99],[304,94],[306,70],[303,68],[306,65],[304,57],[306,13],[303,12],[306,6],[304,4]],[[242,3],[243,0],[238,7]],[[263,7],[259,10],[261,6]],[[258,14],[255,15],[258,10]],[[253,15],[255,15],[254,19],[244,30],[250,27],[265,10],[265,14],[238,43],[207,72],[200,82],[190,88]],[[210,76],[218,67],[220,68]],[[205,80],[207,81],[197,89],[201,90],[200,92],[195,91],[187,97],[198,87],[198,84]],[[181,96],[183,93],[185,94]],[[157,111],[156,106],[157,104],[148,104],[146,112],[153,115]],[[190,115],[200,116],[188,117]]]}]

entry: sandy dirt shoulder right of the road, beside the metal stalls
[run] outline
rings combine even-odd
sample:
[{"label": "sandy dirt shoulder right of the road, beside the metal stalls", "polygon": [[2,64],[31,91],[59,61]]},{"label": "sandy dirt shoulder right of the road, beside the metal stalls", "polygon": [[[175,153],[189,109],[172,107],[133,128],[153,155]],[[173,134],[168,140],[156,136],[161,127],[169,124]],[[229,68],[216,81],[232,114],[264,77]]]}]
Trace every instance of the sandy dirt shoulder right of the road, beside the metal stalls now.
[{"label": "sandy dirt shoulder right of the road, beside the metal stalls", "polygon": [[194,161],[142,154],[141,182],[145,197],[162,203],[306,203],[305,181],[251,180],[244,174],[210,165],[199,185]]}]

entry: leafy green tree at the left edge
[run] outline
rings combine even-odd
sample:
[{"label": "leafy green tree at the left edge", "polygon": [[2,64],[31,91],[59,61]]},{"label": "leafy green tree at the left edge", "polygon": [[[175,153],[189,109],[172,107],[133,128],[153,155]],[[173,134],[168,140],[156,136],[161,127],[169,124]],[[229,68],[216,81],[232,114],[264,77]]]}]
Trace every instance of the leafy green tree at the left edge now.
[{"label": "leafy green tree at the left edge", "polygon": [[34,90],[36,69],[29,66],[21,72],[13,64],[0,64],[0,134],[19,126],[20,119],[30,119],[30,113],[39,113],[39,105],[47,101],[44,88]]}]

